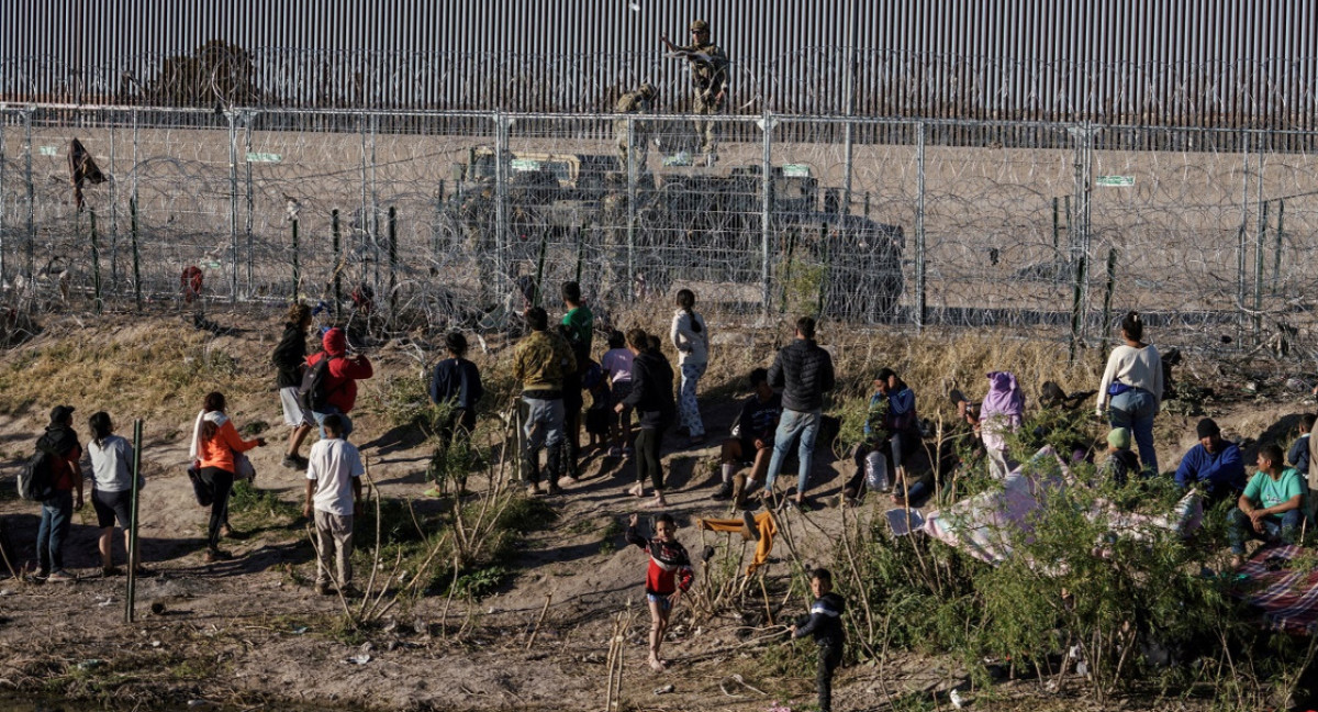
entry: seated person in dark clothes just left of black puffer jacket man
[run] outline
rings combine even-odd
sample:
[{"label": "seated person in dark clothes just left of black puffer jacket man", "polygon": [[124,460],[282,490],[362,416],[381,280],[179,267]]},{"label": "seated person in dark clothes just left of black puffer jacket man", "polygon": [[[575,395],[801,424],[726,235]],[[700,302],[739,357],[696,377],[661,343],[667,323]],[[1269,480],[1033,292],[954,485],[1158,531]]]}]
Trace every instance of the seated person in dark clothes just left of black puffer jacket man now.
[{"label": "seated person in dark clothes just left of black puffer jacket man", "polygon": [[[735,497],[738,506],[749,492],[759,489],[764,481],[768,460],[774,455],[774,430],[783,414],[783,397],[770,388],[768,369],[751,371],[750,388],[753,394],[742,403],[733,436],[724,440],[720,455],[724,483],[713,496],[714,500]],[[746,460],[753,460],[750,479],[738,472]],[[738,481],[734,483],[734,479]]]}]

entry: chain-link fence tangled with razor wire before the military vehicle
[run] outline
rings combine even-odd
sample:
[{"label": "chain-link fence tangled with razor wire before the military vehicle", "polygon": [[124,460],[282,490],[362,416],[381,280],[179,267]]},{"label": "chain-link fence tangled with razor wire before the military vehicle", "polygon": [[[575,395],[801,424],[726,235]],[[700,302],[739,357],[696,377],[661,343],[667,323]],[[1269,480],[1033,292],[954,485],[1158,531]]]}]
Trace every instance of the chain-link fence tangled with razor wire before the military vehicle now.
[{"label": "chain-link fence tangled with razor wire before the military vehicle", "polygon": [[[199,268],[207,299],[435,328],[500,327],[564,280],[608,309],[680,285],[755,316],[1079,338],[1137,309],[1264,339],[1309,309],[1318,171],[1277,146],[1310,134],[700,119],[0,109],[0,276],[25,305],[132,307]],[[84,210],[72,138],[108,177]]]}]

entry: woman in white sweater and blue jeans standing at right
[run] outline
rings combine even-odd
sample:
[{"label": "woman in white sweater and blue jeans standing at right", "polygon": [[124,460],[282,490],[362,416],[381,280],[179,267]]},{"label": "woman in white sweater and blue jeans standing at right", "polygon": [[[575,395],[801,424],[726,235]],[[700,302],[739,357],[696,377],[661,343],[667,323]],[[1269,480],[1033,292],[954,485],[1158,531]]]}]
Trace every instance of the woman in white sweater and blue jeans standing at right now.
[{"label": "woman in white sweater and blue jeans standing at right", "polygon": [[1153,417],[1162,405],[1162,357],[1143,341],[1144,322],[1133,311],[1122,319],[1122,338],[1126,343],[1107,357],[1098,386],[1098,414],[1106,410],[1112,427],[1130,429],[1144,471],[1157,473]]}]

